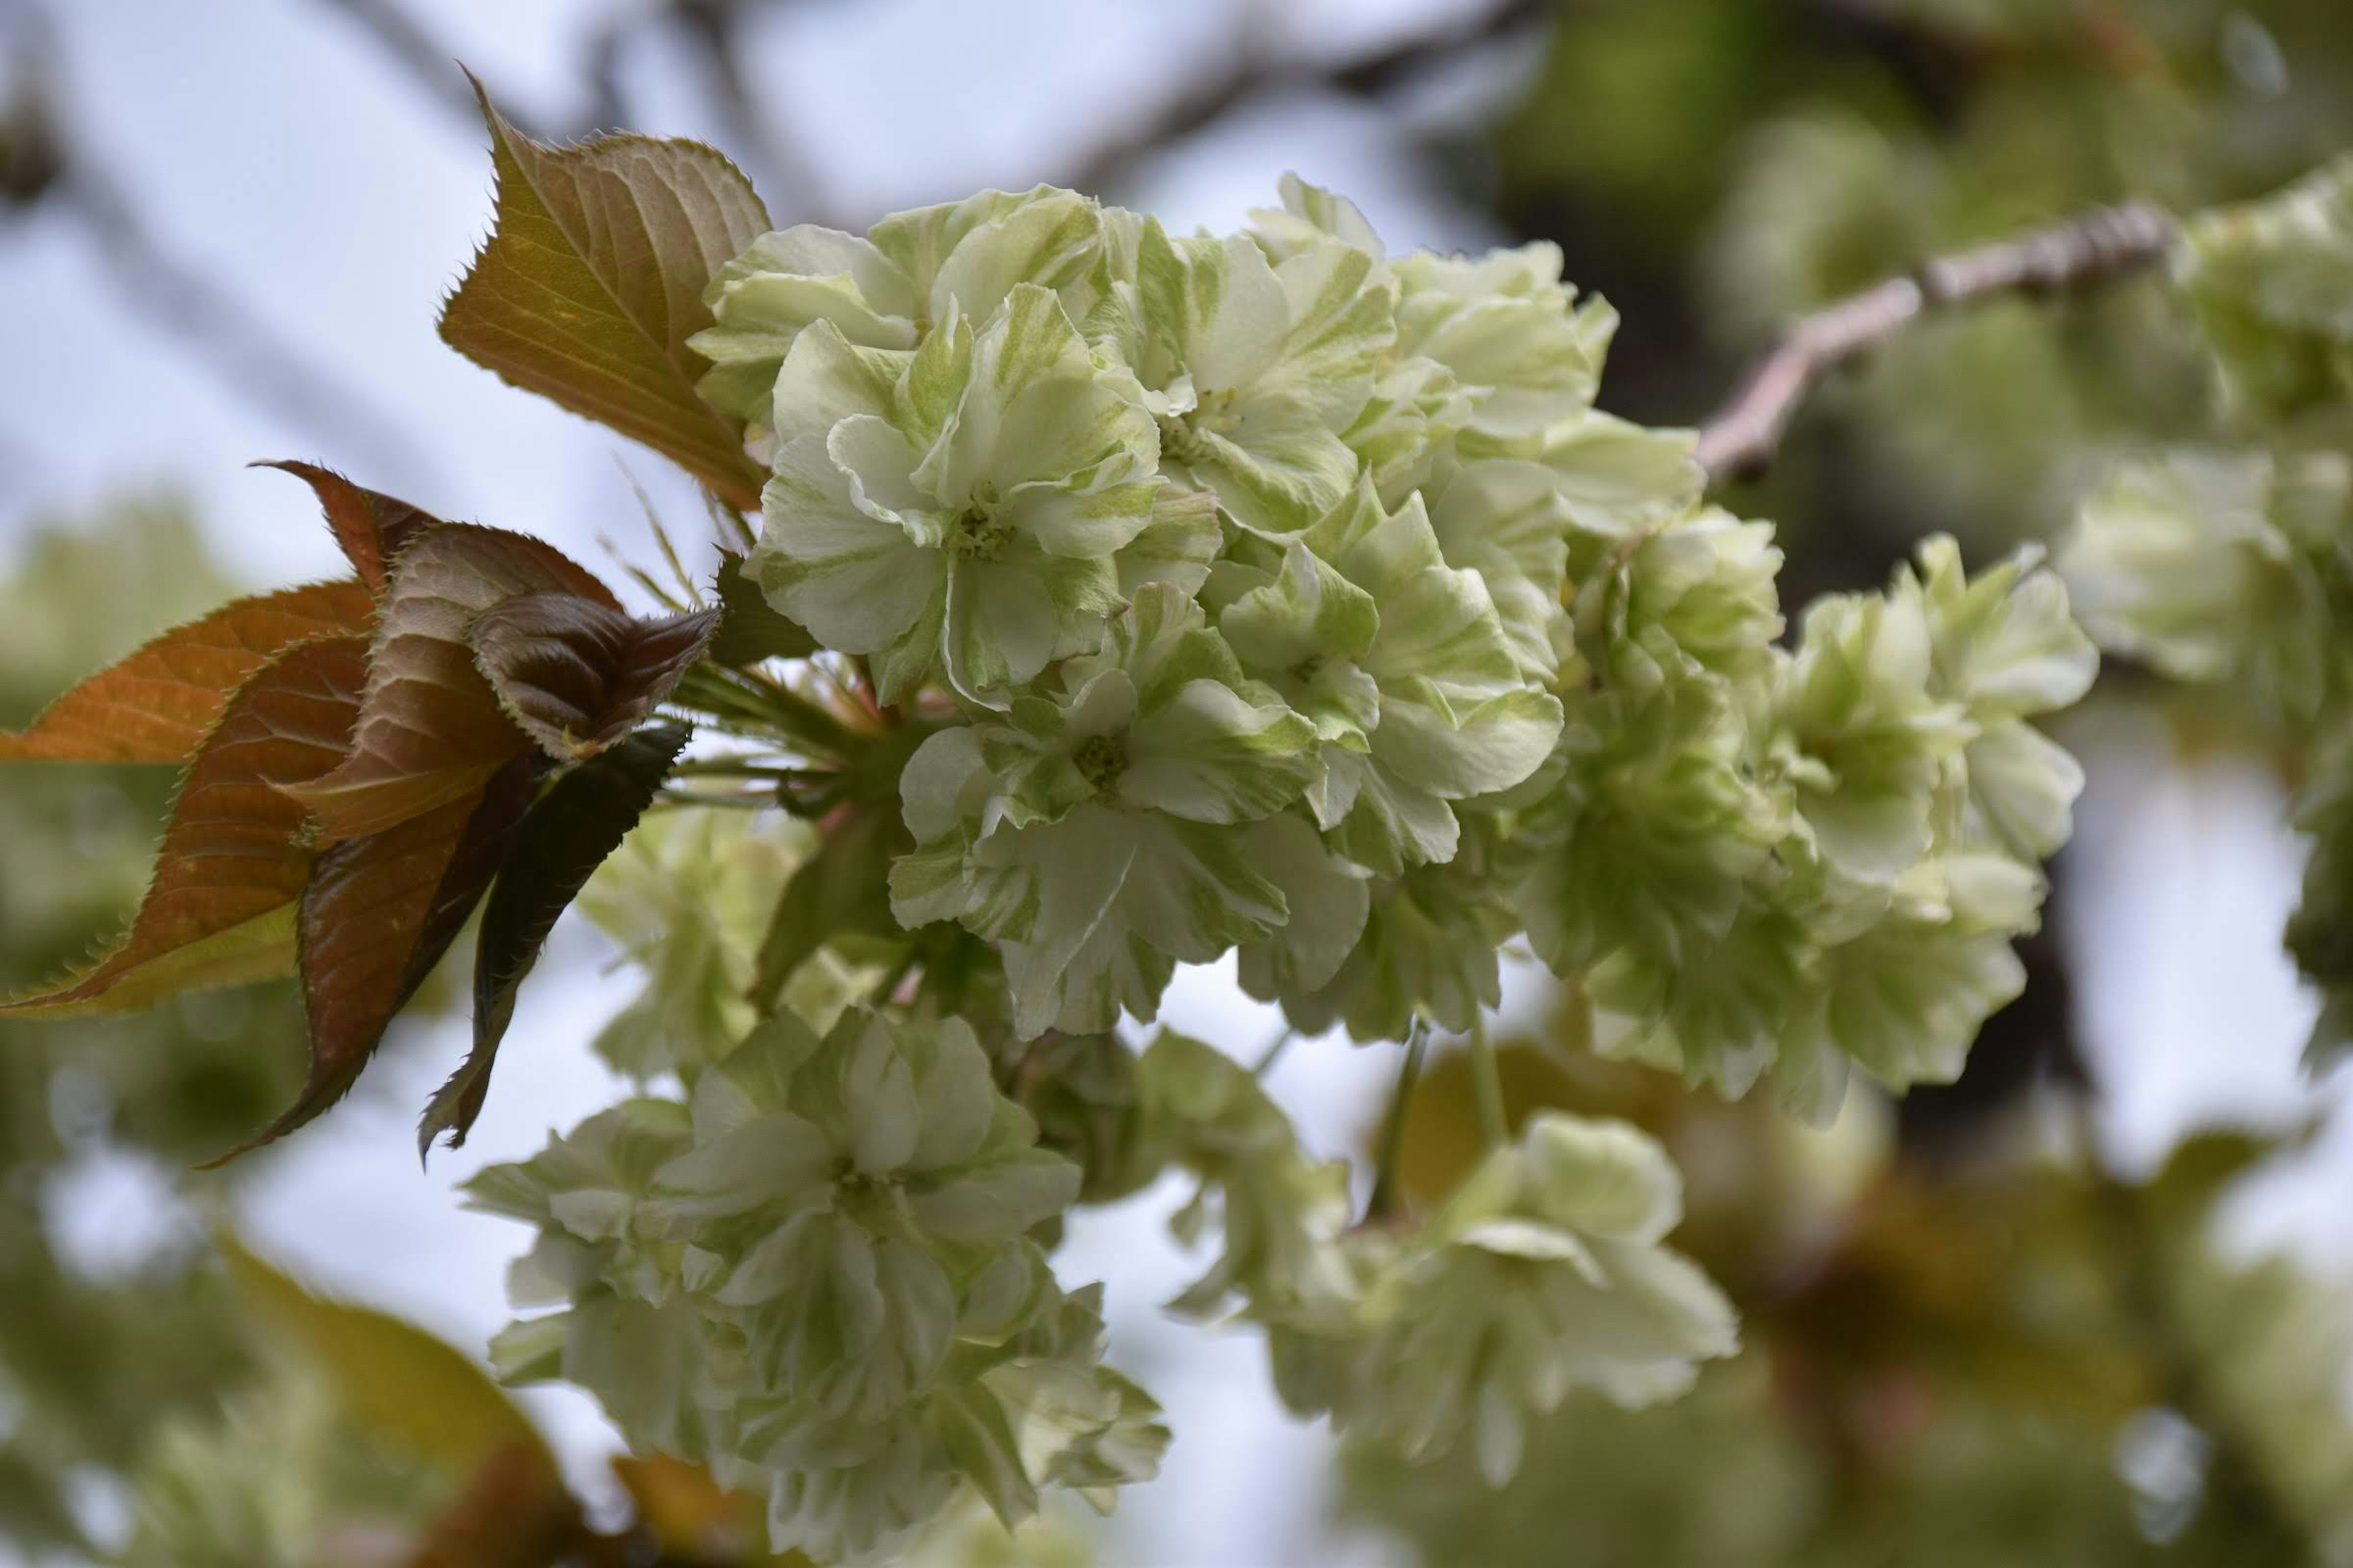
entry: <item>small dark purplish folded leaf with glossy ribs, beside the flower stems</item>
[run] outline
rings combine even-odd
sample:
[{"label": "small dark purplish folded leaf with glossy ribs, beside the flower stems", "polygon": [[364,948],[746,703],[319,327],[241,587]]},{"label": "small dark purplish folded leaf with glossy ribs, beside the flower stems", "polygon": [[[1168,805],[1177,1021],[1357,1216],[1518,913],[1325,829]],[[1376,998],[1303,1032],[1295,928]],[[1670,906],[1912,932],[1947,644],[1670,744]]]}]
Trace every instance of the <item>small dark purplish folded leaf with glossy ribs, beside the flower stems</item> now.
[{"label": "small dark purplish folded leaf with glossy ribs, beside the flower stems", "polygon": [[652,717],[711,646],[720,611],[635,621],[565,592],[529,592],[473,623],[475,663],[558,762],[602,752]]}]

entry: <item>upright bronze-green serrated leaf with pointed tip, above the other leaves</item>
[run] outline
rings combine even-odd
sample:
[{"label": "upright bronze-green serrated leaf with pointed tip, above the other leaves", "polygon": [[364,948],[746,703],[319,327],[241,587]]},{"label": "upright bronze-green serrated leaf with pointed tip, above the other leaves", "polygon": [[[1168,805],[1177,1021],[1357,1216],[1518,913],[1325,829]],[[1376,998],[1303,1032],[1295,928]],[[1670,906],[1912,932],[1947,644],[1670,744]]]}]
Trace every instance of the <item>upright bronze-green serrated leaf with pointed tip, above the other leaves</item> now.
[{"label": "upright bronze-green serrated leaf with pointed tip, above the other leaves", "polygon": [[694,390],[711,369],[687,339],[711,324],[704,287],[767,209],[713,148],[598,136],[527,139],[492,108],[496,228],[442,306],[442,341],[506,381],[645,442],[736,510],[760,468],[734,421]]}]

